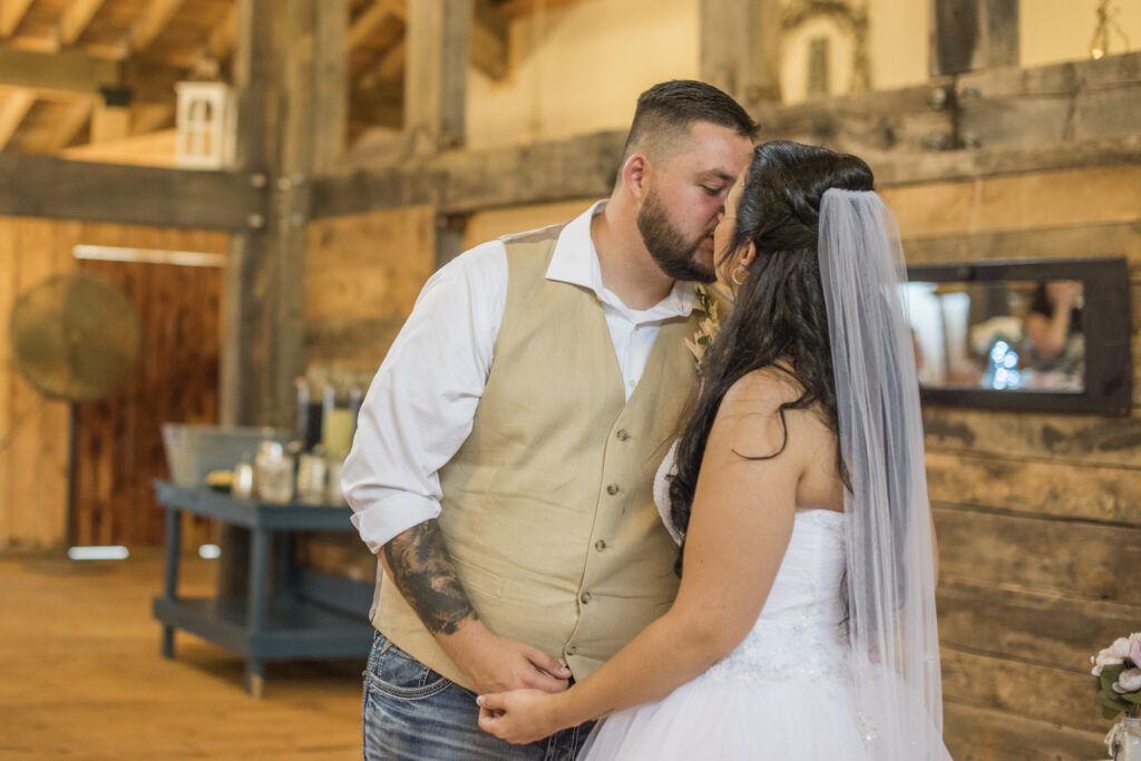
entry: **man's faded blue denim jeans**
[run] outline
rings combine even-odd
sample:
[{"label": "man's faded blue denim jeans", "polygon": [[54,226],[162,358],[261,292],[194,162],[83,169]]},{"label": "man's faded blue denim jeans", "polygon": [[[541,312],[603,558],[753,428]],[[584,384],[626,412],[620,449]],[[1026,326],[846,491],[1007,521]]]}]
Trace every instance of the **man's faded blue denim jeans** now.
[{"label": "man's faded blue denim jeans", "polygon": [[594,723],[529,745],[504,743],[479,728],[475,693],[440,677],[380,632],[364,672],[362,714],[369,761],[570,761]]}]

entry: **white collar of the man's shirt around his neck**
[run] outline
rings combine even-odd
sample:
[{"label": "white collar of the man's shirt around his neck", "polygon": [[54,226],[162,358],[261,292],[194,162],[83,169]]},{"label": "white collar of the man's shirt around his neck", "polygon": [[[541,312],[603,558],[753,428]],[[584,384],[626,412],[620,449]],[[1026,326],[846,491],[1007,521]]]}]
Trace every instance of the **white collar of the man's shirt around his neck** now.
[{"label": "white collar of the man's shirt around his neck", "polygon": [[689,316],[697,306],[693,283],[674,281],[673,288],[664,299],[642,310],[631,309],[602,284],[598,251],[594,250],[594,242],[590,237],[590,221],[596,214],[602,213],[604,209],[606,201],[597,201],[586,211],[567,222],[555,243],[555,253],[551,254],[551,264],[547,268],[547,280],[589,288],[602,303],[626,314],[634,323]]}]

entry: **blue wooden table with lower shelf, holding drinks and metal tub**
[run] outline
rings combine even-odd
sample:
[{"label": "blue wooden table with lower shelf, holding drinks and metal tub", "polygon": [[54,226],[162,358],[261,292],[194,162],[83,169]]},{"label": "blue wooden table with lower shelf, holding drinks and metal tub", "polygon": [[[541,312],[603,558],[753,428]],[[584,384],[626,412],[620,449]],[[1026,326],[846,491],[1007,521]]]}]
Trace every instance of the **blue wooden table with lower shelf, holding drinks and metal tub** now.
[{"label": "blue wooden table with lower shelf, holding drinks and metal tub", "polygon": [[[154,600],[162,622],[162,655],[175,655],[181,629],[245,657],[245,691],[261,697],[270,659],[367,656],[372,585],[299,568],[292,562],[292,534],[300,531],[354,532],[351,510],[341,505],[274,504],[234,499],[212,489],[156,480],[159,505],[167,511],[165,578]],[[250,529],[249,590],[244,598],[181,598],[178,559],[181,513],[217,518]],[[270,597],[270,537],[281,534]]]}]

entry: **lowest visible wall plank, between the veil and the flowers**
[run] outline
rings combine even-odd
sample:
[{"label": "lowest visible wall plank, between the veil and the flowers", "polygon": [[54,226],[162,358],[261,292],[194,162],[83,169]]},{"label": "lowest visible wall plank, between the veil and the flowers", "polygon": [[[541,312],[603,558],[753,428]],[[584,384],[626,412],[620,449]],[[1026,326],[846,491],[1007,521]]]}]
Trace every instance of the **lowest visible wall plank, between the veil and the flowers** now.
[{"label": "lowest visible wall plank, between the veil and the flowers", "polygon": [[994,711],[947,701],[942,718],[955,761],[1090,761],[1106,753],[1103,731],[1062,727],[1023,707]]}]

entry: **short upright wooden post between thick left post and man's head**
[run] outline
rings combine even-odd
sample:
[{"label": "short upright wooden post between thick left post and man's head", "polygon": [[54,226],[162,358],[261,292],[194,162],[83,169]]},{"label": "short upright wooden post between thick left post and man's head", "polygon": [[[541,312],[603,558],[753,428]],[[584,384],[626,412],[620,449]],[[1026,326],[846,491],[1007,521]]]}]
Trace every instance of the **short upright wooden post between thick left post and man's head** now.
[{"label": "short upright wooden post between thick left post and man's head", "polygon": [[474,0],[408,0],[404,130],[412,155],[463,145],[472,8]]}]

